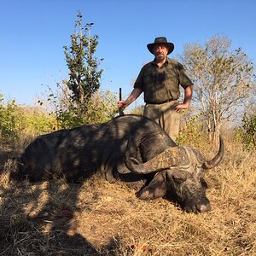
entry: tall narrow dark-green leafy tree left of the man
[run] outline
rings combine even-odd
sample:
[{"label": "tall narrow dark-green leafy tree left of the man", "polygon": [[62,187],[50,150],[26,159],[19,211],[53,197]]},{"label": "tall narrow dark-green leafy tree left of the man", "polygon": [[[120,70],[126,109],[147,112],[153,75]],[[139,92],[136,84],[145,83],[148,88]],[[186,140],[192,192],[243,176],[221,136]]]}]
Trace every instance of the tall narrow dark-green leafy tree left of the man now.
[{"label": "tall narrow dark-green leafy tree left of the man", "polygon": [[88,110],[91,96],[101,86],[102,69],[98,71],[98,66],[102,59],[98,61],[93,56],[98,44],[98,36],[90,35],[93,23],[83,26],[81,12],[77,17],[75,32],[71,35],[72,45],[69,48],[64,46],[64,53],[70,70],[67,87],[72,91],[73,108],[81,116]]}]

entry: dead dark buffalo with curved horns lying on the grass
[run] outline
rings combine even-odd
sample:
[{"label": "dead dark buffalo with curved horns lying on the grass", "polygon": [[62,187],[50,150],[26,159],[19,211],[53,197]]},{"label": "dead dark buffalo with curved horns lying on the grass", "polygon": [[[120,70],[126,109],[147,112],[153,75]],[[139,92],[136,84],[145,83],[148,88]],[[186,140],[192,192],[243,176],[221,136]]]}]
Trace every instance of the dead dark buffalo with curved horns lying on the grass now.
[{"label": "dead dark buffalo with curved horns lying on the grass", "polygon": [[16,159],[15,177],[32,181],[65,177],[68,182],[104,173],[108,181],[142,182],[142,199],[169,196],[188,212],[211,209],[204,174],[224,154],[206,160],[190,146],[177,146],[160,125],[138,115],[55,131],[36,138]]}]

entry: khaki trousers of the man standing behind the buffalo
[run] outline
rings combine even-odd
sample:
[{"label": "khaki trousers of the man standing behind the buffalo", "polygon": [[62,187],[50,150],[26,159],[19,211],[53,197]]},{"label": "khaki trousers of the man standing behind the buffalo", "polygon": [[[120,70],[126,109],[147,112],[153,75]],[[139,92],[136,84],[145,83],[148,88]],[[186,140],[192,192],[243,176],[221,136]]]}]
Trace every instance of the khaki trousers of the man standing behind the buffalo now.
[{"label": "khaki trousers of the man standing behind the buffalo", "polygon": [[148,119],[152,119],[159,124],[174,141],[177,139],[180,125],[180,113],[177,113],[173,107],[176,103],[177,101],[146,104],[143,113]]}]

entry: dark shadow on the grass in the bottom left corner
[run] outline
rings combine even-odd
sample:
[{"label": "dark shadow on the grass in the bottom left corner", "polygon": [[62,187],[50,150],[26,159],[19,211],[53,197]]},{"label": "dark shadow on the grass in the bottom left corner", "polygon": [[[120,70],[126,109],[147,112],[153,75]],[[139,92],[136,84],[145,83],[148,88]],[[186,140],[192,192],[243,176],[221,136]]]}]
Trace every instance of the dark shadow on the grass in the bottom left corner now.
[{"label": "dark shadow on the grass in the bottom left corner", "polygon": [[[4,162],[1,162],[4,166]],[[1,170],[2,171],[2,170]],[[8,171],[2,178],[9,178]],[[0,182],[0,255],[118,255],[118,241],[95,247],[76,232],[82,183]],[[93,230],[92,230],[93,232]],[[99,238],[100,239],[100,238]]]}]

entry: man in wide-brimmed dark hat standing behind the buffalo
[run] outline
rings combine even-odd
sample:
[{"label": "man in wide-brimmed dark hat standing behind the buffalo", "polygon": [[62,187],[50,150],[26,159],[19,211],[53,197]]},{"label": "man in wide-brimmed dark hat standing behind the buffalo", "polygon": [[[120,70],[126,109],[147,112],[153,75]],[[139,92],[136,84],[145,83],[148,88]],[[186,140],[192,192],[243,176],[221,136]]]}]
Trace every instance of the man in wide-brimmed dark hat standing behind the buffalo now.
[{"label": "man in wide-brimmed dark hat standing behind the buffalo", "polygon": [[[143,92],[143,115],[153,119],[175,141],[179,131],[180,111],[189,108],[193,83],[184,71],[183,66],[167,57],[174,49],[174,44],[166,38],[155,38],[153,44],[147,45],[154,55],[154,61],[143,66],[134,84],[131,95],[125,101],[118,102],[118,108],[126,108]],[[184,89],[183,103],[177,102],[180,91]]]}]

